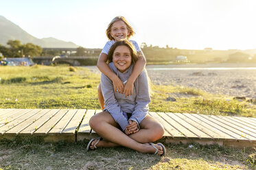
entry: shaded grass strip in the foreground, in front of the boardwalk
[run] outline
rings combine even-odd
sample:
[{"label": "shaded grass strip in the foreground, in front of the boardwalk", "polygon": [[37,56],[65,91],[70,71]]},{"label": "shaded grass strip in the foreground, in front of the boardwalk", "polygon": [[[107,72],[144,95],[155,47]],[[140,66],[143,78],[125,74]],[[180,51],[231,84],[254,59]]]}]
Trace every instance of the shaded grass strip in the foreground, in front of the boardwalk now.
[{"label": "shaded grass strip in the foreground, in front of the boardwalk", "polygon": [[161,158],[124,147],[86,151],[87,143],[1,141],[0,169],[256,169],[252,149],[166,144]]}]

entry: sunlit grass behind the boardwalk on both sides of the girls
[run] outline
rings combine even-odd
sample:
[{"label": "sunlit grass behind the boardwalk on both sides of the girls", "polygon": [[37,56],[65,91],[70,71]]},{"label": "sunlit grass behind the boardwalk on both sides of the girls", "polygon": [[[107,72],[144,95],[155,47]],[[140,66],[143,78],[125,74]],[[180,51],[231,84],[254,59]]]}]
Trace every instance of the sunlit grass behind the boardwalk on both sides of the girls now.
[{"label": "sunlit grass behind the boardwalk on both sides of the girls", "polygon": [[[82,67],[0,66],[0,108],[97,108],[100,75]],[[255,104],[183,86],[153,85],[150,111],[256,117]],[[167,101],[175,97],[176,101]],[[227,99],[231,99],[227,101]]]}]

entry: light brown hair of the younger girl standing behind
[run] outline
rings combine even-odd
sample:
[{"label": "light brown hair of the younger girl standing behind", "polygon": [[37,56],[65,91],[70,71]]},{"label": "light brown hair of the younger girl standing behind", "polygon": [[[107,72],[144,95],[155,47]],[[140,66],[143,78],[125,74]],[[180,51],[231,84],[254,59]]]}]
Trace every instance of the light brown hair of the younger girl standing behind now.
[{"label": "light brown hair of the younger girl standing behind", "polygon": [[126,24],[126,28],[128,29],[129,34],[127,35],[127,39],[130,38],[130,36],[133,36],[133,34],[135,34],[135,32],[133,31],[133,28],[130,26],[130,24],[128,23],[128,21],[126,21],[126,18],[124,18],[124,16],[116,16],[109,24],[108,24],[108,28],[106,29],[106,36],[108,37],[109,40],[115,40],[110,32],[111,32],[111,27],[113,25],[113,23],[117,22],[117,21],[123,21]]}]

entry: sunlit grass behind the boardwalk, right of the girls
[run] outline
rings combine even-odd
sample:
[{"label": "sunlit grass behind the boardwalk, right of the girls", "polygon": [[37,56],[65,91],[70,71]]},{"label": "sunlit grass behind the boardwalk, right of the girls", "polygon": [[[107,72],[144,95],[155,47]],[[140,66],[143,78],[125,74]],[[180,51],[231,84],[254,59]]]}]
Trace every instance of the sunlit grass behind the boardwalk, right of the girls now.
[{"label": "sunlit grass behind the boardwalk, right of the girls", "polygon": [[[154,85],[153,89],[154,95],[152,96],[150,110],[154,112],[256,117],[255,104],[233,100],[232,97],[209,94],[202,90],[183,86]],[[174,97],[176,101],[167,101],[167,97]]]}]

